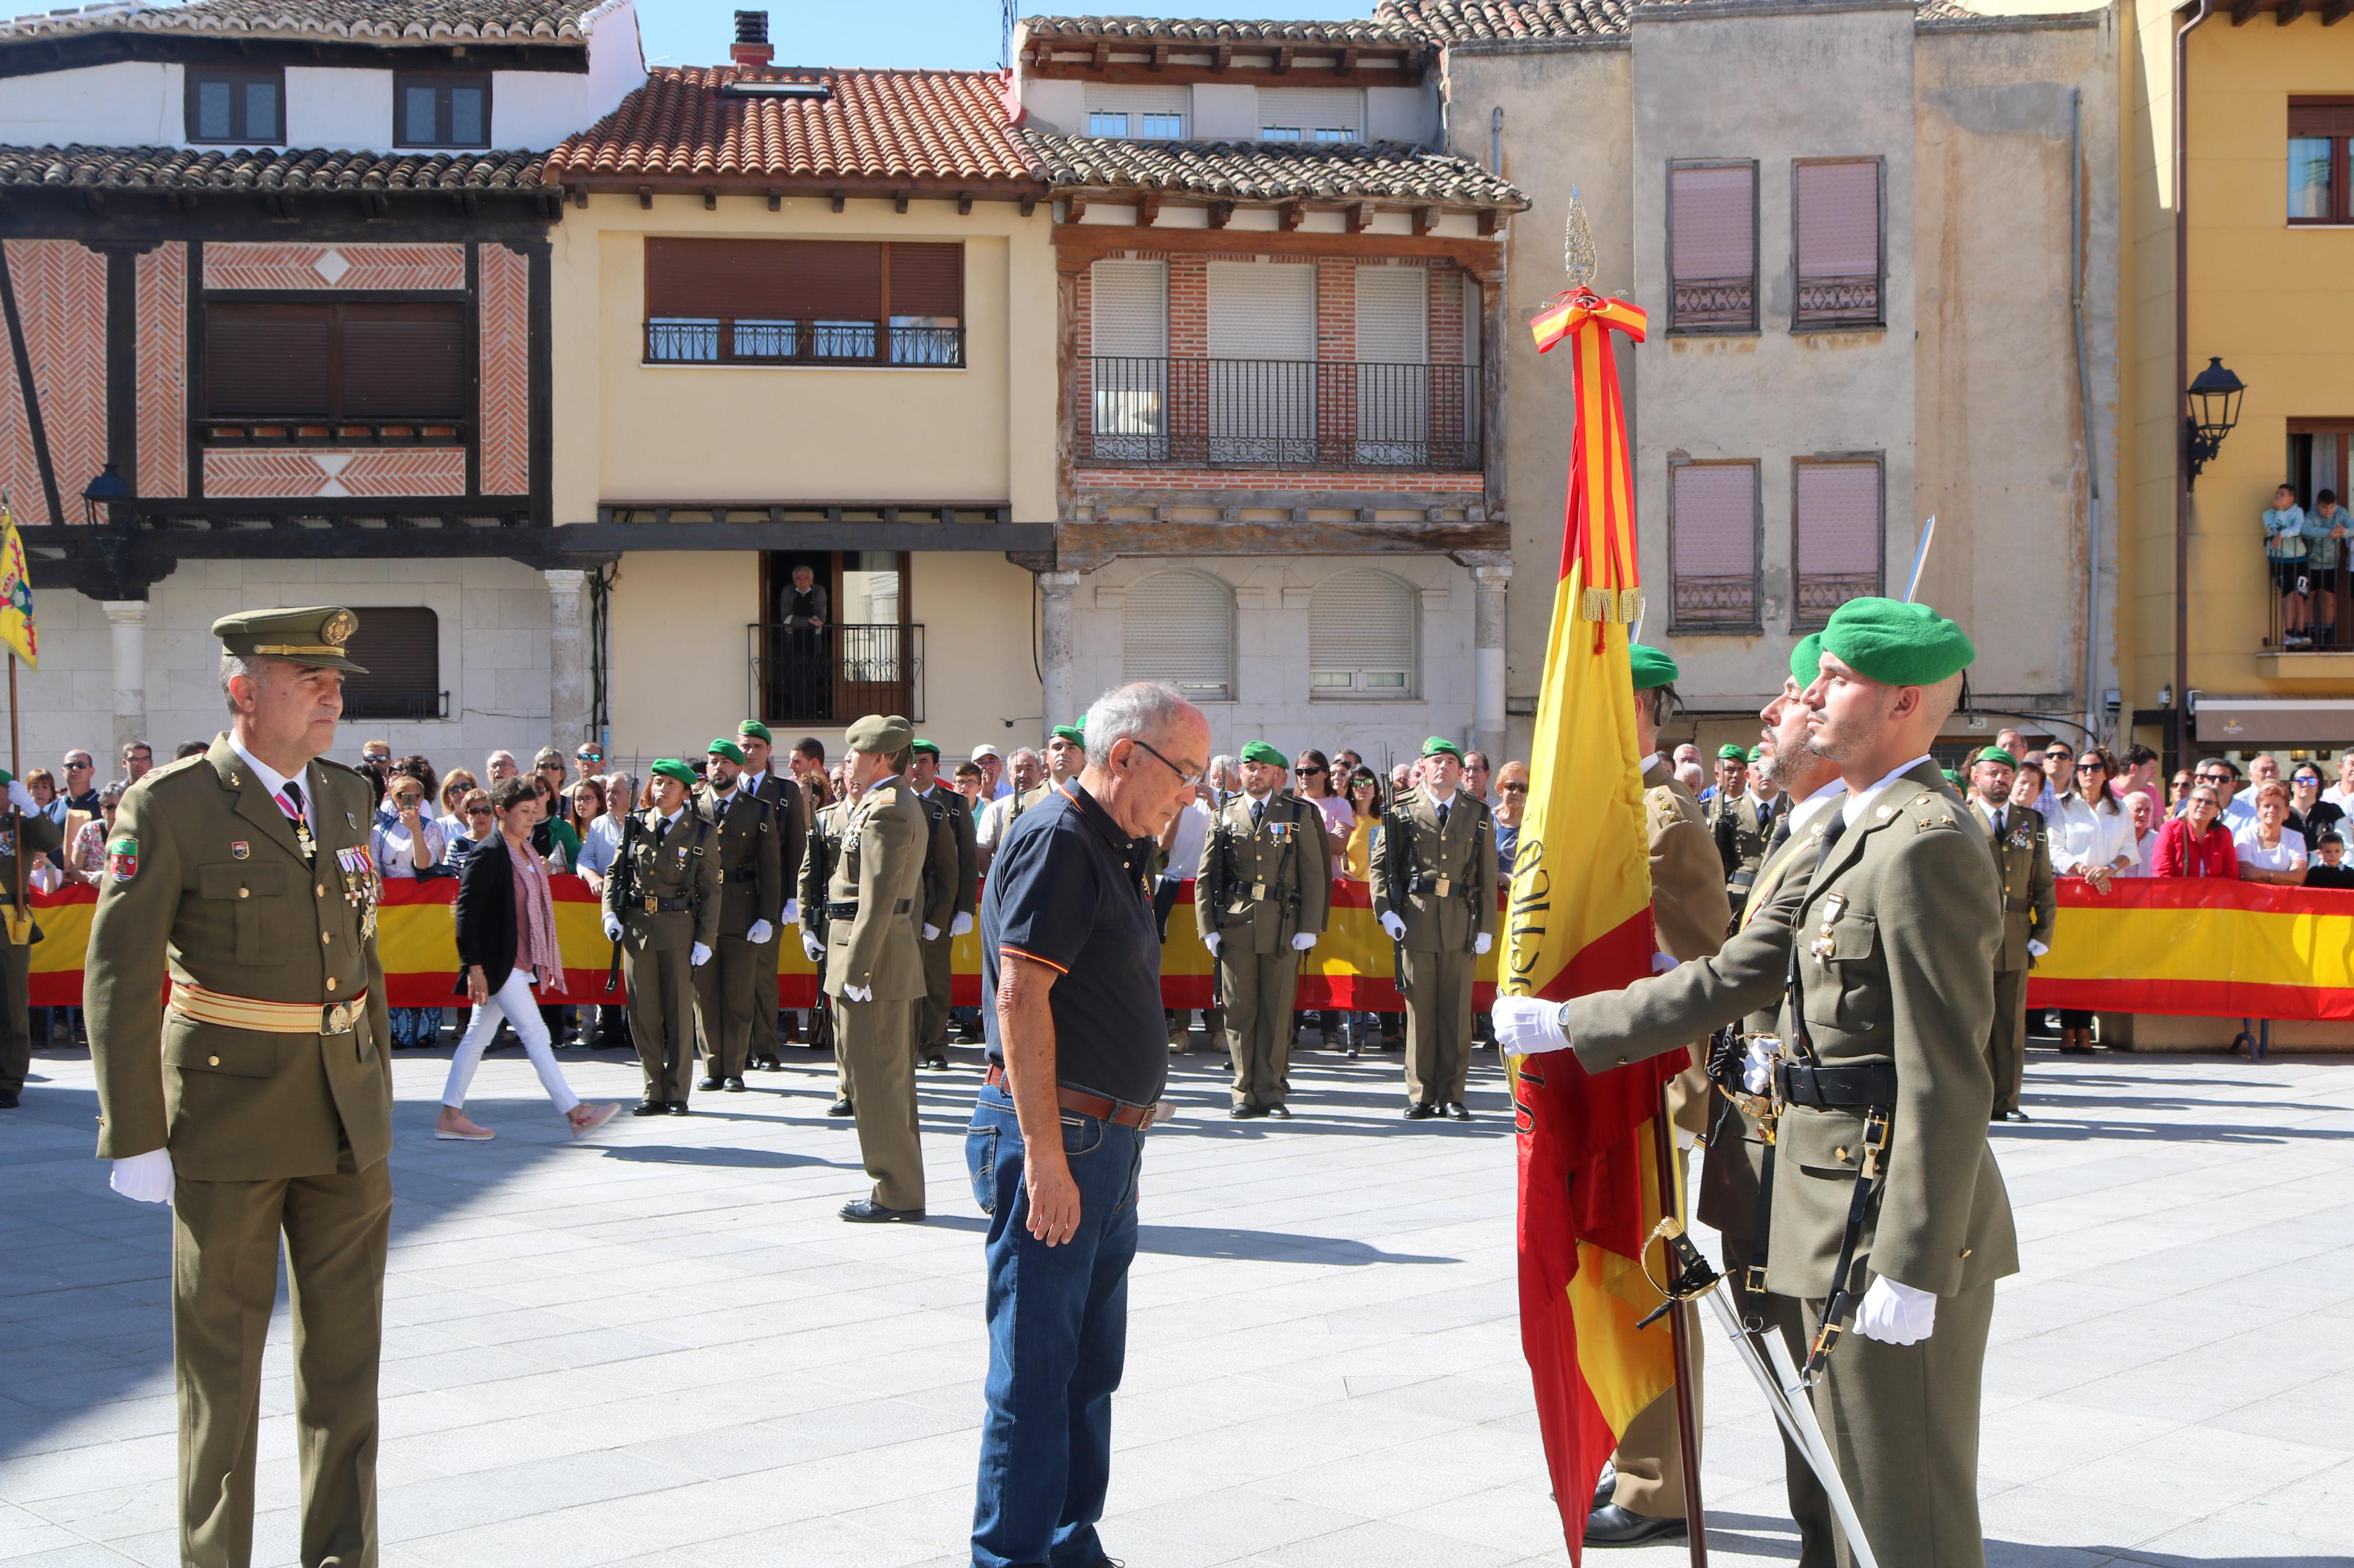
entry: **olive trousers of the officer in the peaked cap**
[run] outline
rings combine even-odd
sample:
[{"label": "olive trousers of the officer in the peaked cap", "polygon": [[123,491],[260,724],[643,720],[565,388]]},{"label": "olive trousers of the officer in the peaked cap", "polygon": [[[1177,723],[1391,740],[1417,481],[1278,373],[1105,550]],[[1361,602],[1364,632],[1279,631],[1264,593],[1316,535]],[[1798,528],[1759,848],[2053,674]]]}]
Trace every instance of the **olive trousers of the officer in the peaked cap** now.
[{"label": "olive trousers of the officer in the peaked cap", "polygon": [[391,1161],[351,1150],[327,1175],[261,1182],[179,1178],[172,1194],[172,1371],[179,1389],[179,1561],[247,1568],[261,1347],[285,1234],[294,1305],[301,1561],[377,1563],[377,1359]]}]

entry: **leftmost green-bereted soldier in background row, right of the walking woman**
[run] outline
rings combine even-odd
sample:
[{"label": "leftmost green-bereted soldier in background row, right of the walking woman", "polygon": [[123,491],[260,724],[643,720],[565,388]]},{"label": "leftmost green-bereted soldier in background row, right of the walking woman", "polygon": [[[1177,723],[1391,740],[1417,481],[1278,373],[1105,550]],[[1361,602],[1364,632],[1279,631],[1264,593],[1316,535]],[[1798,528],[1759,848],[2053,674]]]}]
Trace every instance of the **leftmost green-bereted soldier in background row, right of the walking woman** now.
[{"label": "leftmost green-bereted soldier in background row, right of the walking woman", "polygon": [[692,809],[694,769],[647,769],[654,804],[621,823],[605,875],[605,940],[621,945],[629,1032],[645,1067],[633,1117],[687,1114],[694,1084],[694,971],[720,936],[720,858],[711,818]]}]

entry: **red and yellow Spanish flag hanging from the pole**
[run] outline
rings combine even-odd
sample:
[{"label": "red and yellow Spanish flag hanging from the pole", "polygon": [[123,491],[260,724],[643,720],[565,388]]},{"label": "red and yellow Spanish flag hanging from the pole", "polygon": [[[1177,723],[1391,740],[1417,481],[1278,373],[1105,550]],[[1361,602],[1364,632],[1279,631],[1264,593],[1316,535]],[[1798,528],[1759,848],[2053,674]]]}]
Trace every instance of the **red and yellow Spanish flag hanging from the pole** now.
[{"label": "red and yellow Spanish flag hanging from the pole", "polygon": [[[1641,343],[1643,313],[1572,289],[1532,329],[1540,353],[1570,346],[1577,425],[1497,985],[1568,999],[1648,976],[1657,950],[1627,670],[1641,578],[1610,339],[1624,331]],[[1627,1422],[1676,1382],[1667,1324],[1636,1333],[1636,1321],[1660,1302],[1641,1267],[1662,1213],[1650,1119],[1683,1065],[1681,1051],[1603,1074],[1587,1074],[1568,1051],[1514,1063],[1521,1349],[1572,1563],[1603,1460]],[[1664,1279],[1664,1262],[1653,1272]]]}]

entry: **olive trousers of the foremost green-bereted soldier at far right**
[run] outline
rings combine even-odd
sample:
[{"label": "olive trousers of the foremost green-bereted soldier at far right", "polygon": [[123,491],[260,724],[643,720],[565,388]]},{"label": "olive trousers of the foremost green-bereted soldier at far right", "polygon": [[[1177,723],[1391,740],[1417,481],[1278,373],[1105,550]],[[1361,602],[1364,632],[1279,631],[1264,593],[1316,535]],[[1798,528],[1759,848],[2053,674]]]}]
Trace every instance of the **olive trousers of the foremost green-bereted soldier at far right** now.
[{"label": "olive trousers of the foremost green-bereted soldier at far right", "polygon": [[[1815,1335],[1822,1300],[1806,1302]],[[1937,1328],[1919,1345],[1838,1335],[1815,1385],[1815,1420],[1831,1443],[1855,1516],[1883,1563],[1984,1568],[1977,1523],[1977,1420],[1994,1286],[1937,1298]],[[1838,1568],[1855,1568],[1846,1540]]]}]

